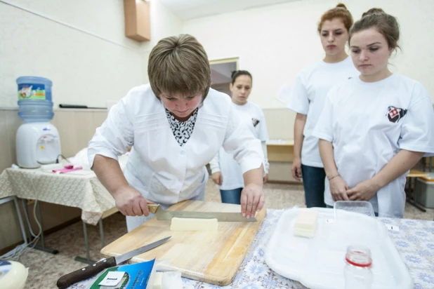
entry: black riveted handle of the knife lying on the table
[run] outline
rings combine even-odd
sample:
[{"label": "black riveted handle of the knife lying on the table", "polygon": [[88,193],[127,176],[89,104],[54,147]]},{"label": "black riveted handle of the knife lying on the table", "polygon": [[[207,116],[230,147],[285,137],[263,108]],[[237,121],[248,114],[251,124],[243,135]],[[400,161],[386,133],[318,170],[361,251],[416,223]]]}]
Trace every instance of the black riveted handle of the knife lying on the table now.
[{"label": "black riveted handle of the knife lying on the table", "polygon": [[116,266],[116,260],[114,257],[110,257],[108,259],[102,260],[100,262],[96,262],[93,265],[89,265],[88,267],[84,267],[82,269],[78,269],[70,274],[66,274],[62,276],[58,280],[58,288],[65,289],[70,285],[77,283],[79,281],[83,281],[84,279],[91,278],[92,276],[100,273],[104,269]]}]

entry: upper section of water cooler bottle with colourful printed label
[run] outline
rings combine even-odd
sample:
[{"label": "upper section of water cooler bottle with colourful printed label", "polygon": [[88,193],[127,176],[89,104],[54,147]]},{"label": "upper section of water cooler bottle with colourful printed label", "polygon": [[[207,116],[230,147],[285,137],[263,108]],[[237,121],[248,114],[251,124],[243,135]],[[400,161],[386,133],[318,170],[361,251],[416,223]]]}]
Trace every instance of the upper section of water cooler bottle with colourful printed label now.
[{"label": "upper section of water cooler bottle with colourful printed label", "polygon": [[18,100],[48,100],[51,99],[50,79],[39,76],[20,76],[17,79]]}]

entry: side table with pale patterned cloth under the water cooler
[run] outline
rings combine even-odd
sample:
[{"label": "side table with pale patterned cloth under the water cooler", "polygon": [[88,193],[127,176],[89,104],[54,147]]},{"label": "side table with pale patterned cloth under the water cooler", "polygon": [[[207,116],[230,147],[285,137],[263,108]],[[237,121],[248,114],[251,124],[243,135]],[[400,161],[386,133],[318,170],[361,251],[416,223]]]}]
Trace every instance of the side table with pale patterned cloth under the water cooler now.
[{"label": "side table with pale patterned cloth under the water cooler", "polygon": [[[6,168],[0,175],[0,199],[8,196],[80,208],[86,258],[77,256],[75,260],[88,264],[93,264],[95,261],[91,260],[89,255],[86,224],[100,225],[101,243],[104,247],[102,219],[105,215],[117,211],[113,197],[92,171],[77,170],[66,174],[55,174],[40,169]],[[41,222],[38,205],[39,203],[37,204],[38,218]],[[23,206],[27,208],[25,203]],[[44,234],[41,234],[41,243],[40,250],[57,253],[57,250],[45,247]]]}]

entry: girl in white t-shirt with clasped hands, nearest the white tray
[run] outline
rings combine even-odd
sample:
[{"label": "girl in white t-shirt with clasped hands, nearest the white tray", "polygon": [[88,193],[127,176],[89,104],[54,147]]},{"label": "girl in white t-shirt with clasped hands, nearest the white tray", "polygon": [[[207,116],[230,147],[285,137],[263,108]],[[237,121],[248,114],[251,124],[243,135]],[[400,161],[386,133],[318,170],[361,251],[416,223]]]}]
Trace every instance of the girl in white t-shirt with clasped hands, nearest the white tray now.
[{"label": "girl in white t-shirt with clasped hands, nearest the white tray", "polygon": [[373,8],[350,29],[360,77],[331,88],[314,135],[327,173],[325,202],[370,201],[402,217],[407,172],[434,153],[434,112],[421,83],[388,69],[400,36],[395,17]]}]

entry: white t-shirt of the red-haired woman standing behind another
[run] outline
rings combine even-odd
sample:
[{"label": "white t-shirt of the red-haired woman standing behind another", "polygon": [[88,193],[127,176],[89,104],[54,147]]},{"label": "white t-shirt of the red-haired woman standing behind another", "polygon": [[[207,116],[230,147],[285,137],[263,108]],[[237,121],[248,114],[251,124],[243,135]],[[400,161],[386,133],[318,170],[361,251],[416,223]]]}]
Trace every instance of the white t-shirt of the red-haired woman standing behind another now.
[{"label": "white t-shirt of the red-haired woman standing behind another", "polygon": [[303,130],[304,140],[301,147],[301,163],[305,166],[323,168],[318,149],[318,138],[313,129],[324,107],[324,100],[330,88],[349,77],[358,76],[350,57],[338,63],[316,62],[298,74],[291,91],[288,108],[299,114],[307,114]]}]

